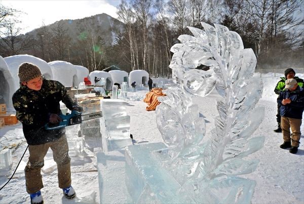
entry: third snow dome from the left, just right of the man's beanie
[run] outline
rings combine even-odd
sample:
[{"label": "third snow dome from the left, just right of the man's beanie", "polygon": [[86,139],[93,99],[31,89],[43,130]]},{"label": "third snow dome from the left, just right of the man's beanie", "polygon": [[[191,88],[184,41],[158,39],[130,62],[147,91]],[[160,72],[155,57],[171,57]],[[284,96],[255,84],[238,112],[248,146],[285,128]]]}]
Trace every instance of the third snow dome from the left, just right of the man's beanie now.
[{"label": "third snow dome from the left, just right of the man's beanie", "polygon": [[75,66],[66,61],[51,61],[49,62],[53,72],[53,79],[59,81],[65,87],[78,86],[79,79]]}]

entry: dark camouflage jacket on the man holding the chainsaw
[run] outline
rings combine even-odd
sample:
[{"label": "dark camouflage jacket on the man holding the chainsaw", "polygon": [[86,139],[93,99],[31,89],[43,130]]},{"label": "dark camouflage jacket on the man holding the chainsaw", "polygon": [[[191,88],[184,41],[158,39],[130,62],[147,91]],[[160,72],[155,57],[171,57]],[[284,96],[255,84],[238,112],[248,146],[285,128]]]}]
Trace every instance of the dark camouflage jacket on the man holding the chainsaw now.
[{"label": "dark camouflage jacket on the man holding the chainsaw", "polygon": [[41,145],[53,142],[65,133],[65,128],[56,130],[44,128],[44,125],[49,122],[51,113],[61,113],[59,101],[72,110],[73,101],[60,82],[44,79],[39,91],[20,85],[12,99],[17,119],[22,123],[27,144]]}]

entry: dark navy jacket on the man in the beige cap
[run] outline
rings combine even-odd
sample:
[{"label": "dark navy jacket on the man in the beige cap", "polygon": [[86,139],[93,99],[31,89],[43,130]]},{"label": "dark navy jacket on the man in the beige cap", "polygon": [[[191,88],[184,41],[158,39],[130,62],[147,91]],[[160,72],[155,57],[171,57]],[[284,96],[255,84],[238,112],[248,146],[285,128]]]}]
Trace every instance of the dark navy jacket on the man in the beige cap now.
[{"label": "dark navy jacket on the man in the beige cap", "polygon": [[[290,98],[291,103],[284,106],[282,104],[282,100],[284,98]],[[299,86],[294,91],[284,89],[282,92],[280,92],[278,104],[281,105],[281,116],[302,119],[302,114],[304,111],[304,89]]]}]

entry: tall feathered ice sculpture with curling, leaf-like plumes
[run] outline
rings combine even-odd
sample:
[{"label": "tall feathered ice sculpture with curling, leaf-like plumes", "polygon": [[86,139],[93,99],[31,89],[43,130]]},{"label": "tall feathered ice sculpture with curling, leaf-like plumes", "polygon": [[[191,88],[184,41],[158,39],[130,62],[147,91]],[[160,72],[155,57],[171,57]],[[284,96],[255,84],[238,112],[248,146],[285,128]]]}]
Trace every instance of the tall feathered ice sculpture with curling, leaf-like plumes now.
[{"label": "tall feathered ice sculpture with curling, leaf-like plumes", "polygon": [[[218,24],[202,25],[204,30],[188,27],[194,36],[179,36],[180,44],[171,48],[170,68],[179,87],[169,88],[156,110],[168,146],[163,167],[180,185],[178,200],[186,196],[199,203],[250,203],[255,181],[238,176],[255,171],[258,160],[244,157],[264,143],[263,137],[251,137],[264,117],[264,109],[255,108],[263,89],[261,81],[252,79],[256,57],[244,49],[238,33]],[[214,73],[197,70],[201,64]],[[192,98],[214,88],[222,99],[216,103],[215,128],[205,137],[205,121]],[[144,189],[165,185],[159,181],[145,181]],[[160,191],[148,192],[141,192],[140,199],[154,202],[162,197]]]}]

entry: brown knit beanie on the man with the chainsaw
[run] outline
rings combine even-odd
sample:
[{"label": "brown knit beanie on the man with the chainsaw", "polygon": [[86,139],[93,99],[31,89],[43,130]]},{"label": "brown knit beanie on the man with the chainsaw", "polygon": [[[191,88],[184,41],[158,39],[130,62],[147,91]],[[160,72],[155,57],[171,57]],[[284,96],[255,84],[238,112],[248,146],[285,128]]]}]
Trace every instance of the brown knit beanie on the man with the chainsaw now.
[{"label": "brown knit beanie on the man with the chainsaw", "polygon": [[19,66],[18,77],[20,78],[20,83],[28,82],[31,79],[42,76],[38,66],[32,63],[22,63]]}]

